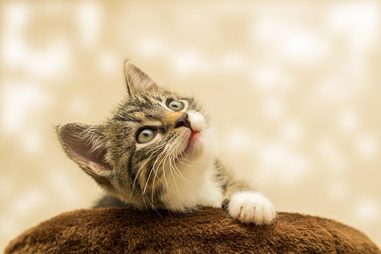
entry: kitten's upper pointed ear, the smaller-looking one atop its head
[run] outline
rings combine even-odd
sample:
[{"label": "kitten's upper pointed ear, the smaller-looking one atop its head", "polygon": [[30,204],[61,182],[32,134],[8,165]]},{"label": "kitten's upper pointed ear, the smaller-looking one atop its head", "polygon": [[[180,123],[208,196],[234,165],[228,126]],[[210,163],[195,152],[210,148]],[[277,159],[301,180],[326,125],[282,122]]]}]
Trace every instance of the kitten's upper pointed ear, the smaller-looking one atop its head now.
[{"label": "kitten's upper pointed ear, the smaller-looking one atop its head", "polygon": [[154,80],[129,60],[124,64],[124,73],[129,95],[133,95],[139,91],[149,92],[158,88]]}]

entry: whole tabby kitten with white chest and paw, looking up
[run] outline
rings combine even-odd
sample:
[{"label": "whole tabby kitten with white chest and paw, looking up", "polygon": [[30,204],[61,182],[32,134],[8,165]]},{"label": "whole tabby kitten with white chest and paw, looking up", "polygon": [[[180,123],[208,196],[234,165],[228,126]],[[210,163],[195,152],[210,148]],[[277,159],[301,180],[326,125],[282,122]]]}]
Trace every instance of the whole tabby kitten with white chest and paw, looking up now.
[{"label": "whole tabby kitten with white chest and paw, looking up", "polygon": [[275,219],[269,199],[235,181],[221,163],[213,128],[195,98],[158,86],[131,61],[125,79],[128,96],[108,121],[56,128],[67,156],[109,195],[96,207],[190,212],[222,206],[242,223]]}]

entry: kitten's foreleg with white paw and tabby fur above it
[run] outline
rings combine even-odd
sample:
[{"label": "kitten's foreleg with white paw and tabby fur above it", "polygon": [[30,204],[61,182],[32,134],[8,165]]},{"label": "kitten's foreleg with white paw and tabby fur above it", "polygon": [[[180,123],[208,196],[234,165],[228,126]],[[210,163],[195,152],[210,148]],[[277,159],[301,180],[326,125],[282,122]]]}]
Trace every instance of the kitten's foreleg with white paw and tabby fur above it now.
[{"label": "kitten's foreleg with white paw and tabby fur above it", "polygon": [[276,217],[269,199],[240,182],[227,181],[222,207],[242,223],[269,225]]}]

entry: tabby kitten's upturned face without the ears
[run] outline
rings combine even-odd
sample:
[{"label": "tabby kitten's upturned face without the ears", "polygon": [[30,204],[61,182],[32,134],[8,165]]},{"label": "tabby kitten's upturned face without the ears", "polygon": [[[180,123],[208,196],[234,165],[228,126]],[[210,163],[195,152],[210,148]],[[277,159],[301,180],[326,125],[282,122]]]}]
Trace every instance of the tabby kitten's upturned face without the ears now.
[{"label": "tabby kitten's upturned face without the ears", "polygon": [[120,182],[133,182],[139,198],[152,188],[160,196],[168,177],[198,161],[209,141],[208,122],[194,99],[163,90],[133,95],[108,125],[106,158],[120,170]]}]

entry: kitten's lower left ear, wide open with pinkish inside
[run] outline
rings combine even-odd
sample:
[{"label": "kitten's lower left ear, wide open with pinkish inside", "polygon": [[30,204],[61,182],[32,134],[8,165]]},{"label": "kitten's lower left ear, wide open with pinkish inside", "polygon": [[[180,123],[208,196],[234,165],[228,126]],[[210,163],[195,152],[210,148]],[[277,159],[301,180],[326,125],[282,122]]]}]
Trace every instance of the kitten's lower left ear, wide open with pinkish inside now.
[{"label": "kitten's lower left ear, wide open with pinkish inside", "polygon": [[112,169],[105,161],[106,141],[96,125],[69,122],[56,127],[67,156],[103,187],[111,187]]}]

